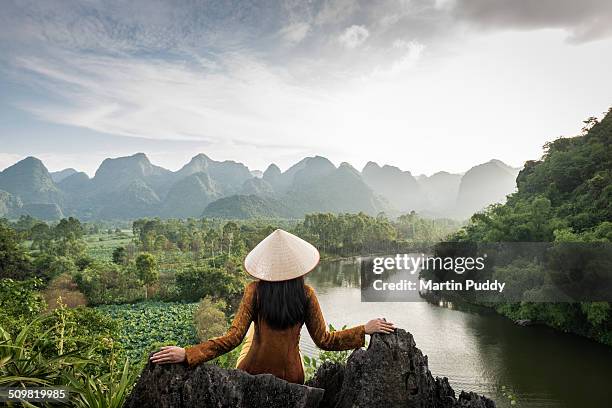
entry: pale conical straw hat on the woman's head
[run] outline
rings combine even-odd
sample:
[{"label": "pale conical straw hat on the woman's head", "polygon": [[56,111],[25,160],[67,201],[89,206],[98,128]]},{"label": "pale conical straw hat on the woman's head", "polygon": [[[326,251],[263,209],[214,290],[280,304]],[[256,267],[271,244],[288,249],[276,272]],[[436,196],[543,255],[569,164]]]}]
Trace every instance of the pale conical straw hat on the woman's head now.
[{"label": "pale conical straw hat on the woman's head", "polygon": [[276,282],[305,275],[318,263],[317,248],[287,231],[277,229],[249,252],[244,268],[258,279]]}]

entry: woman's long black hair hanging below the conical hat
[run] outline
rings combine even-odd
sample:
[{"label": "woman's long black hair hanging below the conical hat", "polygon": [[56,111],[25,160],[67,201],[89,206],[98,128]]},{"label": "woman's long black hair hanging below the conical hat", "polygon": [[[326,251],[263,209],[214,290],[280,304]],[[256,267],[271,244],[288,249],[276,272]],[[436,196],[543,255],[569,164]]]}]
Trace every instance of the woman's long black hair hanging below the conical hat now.
[{"label": "woman's long black hair hanging below the conical hat", "polygon": [[304,278],[257,283],[257,313],[270,327],[286,329],[306,320]]}]

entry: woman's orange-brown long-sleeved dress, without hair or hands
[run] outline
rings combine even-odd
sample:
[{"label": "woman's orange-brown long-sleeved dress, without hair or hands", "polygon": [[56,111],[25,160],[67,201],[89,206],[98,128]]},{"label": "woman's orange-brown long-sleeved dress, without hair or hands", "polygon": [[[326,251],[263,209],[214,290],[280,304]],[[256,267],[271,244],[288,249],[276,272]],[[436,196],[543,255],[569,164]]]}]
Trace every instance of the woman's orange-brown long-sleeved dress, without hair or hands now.
[{"label": "woman's orange-brown long-sleeved dress, without hair or hands", "polygon": [[[257,316],[256,289],[257,282],[251,282],[245,288],[236,317],[224,336],[185,349],[187,364],[194,366],[233,350],[242,342],[251,322],[254,322],[253,342],[246,357],[238,364],[238,368],[250,374],[268,373],[292,383],[303,384],[304,369],[299,349],[303,323],[284,330],[270,327]],[[305,285],[305,289],[308,308],[304,323],[315,344],[323,350],[336,351],[363,347],[365,326],[327,331],[314,289],[308,285]]]}]

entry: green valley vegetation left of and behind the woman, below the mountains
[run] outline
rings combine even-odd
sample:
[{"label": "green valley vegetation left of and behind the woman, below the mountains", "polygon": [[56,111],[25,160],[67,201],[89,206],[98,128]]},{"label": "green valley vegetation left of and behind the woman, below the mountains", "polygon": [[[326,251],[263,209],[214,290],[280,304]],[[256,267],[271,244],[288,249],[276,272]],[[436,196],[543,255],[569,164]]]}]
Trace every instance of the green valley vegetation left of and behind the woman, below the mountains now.
[{"label": "green valley vegetation left of and behind the woman, below the mountains", "polygon": [[[244,256],[275,228],[338,257],[437,239],[458,224],[358,213],[303,221],[139,219],[129,231],[75,218],[0,219],[0,348],[10,354],[3,377],[69,385],[74,406],[120,406],[150,352],[227,329],[249,282]],[[234,367],[240,349],[213,363]],[[319,359],[347,356],[323,352]]]}]

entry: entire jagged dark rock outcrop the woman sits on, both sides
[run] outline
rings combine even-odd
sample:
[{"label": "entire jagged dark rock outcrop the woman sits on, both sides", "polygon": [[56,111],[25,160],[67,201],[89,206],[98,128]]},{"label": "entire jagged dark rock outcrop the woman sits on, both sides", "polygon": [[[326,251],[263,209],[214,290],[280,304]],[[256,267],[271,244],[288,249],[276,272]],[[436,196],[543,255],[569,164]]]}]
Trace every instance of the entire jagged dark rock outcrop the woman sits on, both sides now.
[{"label": "entire jagged dark rock outcrop the woman sits on, both sides", "polygon": [[125,407],[494,408],[495,403],[471,392],[456,398],[446,378],[431,375],[412,335],[398,329],[372,336],[367,350],[353,352],[346,366],[323,364],[306,385],[210,364],[149,363]]}]

